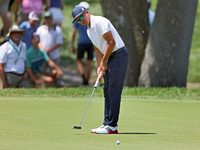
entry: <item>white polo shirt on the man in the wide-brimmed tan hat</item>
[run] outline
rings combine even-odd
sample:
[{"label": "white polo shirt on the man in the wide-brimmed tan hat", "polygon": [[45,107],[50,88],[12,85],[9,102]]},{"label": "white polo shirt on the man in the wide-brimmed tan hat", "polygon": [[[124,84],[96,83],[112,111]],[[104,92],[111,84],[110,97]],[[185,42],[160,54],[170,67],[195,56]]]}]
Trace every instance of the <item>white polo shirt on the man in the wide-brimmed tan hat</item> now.
[{"label": "white polo shirt on the man in the wide-brimmed tan hat", "polygon": [[10,39],[0,47],[0,63],[5,63],[5,72],[23,74],[26,61],[26,44],[20,41],[17,46]]}]

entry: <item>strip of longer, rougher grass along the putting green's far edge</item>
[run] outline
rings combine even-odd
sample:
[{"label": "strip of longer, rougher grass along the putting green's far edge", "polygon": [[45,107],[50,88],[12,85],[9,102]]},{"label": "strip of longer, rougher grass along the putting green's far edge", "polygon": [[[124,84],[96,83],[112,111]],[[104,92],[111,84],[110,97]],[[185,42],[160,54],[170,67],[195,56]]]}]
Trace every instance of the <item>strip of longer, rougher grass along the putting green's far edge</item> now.
[{"label": "strip of longer, rougher grass along the putting green's far edge", "polygon": [[[4,89],[1,97],[90,97],[93,87],[47,88],[47,89]],[[102,97],[103,87],[95,91],[96,97]],[[124,87],[122,97],[131,99],[176,99],[200,100],[200,88],[128,88]]]}]

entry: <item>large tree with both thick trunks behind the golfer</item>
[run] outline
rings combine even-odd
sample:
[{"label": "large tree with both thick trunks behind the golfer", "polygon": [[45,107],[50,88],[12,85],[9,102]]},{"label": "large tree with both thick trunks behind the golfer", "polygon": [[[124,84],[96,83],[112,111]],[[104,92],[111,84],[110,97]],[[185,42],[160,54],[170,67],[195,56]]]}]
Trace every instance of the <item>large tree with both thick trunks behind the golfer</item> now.
[{"label": "large tree with both thick trunks behind the golfer", "polygon": [[144,87],[186,86],[197,3],[159,0],[146,45],[146,0],[101,0],[104,16],[114,24],[129,51],[125,85],[137,86],[139,78],[139,86]]}]

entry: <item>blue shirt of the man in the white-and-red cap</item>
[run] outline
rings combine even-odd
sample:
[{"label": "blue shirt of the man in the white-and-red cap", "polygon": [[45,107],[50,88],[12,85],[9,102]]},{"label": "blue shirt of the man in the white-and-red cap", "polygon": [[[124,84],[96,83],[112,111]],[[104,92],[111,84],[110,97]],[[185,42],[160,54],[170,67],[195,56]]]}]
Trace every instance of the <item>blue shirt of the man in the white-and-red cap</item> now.
[{"label": "blue shirt of the man in the white-and-red cap", "polygon": [[37,28],[39,27],[39,24],[37,24],[33,29],[31,28],[29,21],[24,21],[21,23],[20,28],[24,29],[25,34],[22,37],[22,41],[26,43],[26,48],[29,49],[31,44],[32,35],[34,32],[36,32]]}]

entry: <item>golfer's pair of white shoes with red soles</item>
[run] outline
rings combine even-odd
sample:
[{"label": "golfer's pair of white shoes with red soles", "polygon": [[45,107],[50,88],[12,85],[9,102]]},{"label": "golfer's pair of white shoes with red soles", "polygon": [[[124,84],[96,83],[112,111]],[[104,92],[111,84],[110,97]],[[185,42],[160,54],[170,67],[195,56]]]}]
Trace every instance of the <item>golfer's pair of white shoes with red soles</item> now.
[{"label": "golfer's pair of white shoes with red soles", "polygon": [[117,134],[117,126],[112,127],[112,126],[104,126],[103,128],[97,128],[93,133],[96,134]]}]

